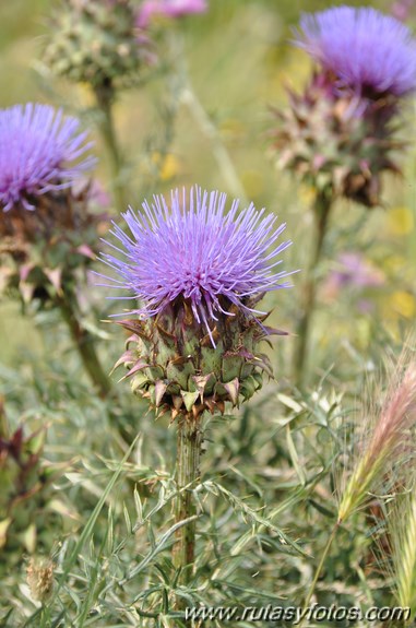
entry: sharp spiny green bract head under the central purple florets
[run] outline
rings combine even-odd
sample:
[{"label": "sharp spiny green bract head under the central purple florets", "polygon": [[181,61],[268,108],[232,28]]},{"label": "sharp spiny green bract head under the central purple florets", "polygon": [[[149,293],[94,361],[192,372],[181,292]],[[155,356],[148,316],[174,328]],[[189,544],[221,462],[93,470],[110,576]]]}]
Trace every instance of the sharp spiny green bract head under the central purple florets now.
[{"label": "sharp spiny green bract head under the central purple florets", "polygon": [[133,335],[115,368],[126,365],[132,390],[161,414],[170,411],[173,418],[189,413],[198,417],[205,410],[224,413],[226,402],[237,406],[262,387],[263,372],[272,376],[259,343],[283,332],[265,328],[236,306],[223,306],[234,316],[218,317],[212,330],[215,347],[183,299],[155,318],[121,321]]}]

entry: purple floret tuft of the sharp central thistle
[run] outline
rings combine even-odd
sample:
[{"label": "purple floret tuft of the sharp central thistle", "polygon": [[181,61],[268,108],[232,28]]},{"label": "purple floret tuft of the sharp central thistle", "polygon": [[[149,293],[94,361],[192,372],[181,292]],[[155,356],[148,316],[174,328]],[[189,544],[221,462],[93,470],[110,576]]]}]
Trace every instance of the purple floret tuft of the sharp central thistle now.
[{"label": "purple floret tuft of the sharp central thistle", "polygon": [[282,262],[277,256],[292,244],[277,245],[286,225],[276,226],[276,216],[265,215],[264,209],[257,211],[253,204],[238,212],[238,200],[226,212],[226,200],[225,193],[195,187],[189,200],[185,189],[182,194],[173,191],[170,209],[163,195],[153,197],[151,206],[144,202],[142,213],[130,209],[122,214],[130,234],[115,223],[110,232],[121,248],[104,240],[122,258],[102,254],[120,279],[100,275],[110,284],[99,285],[131,293],[114,298],[139,299],[142,307],[130,313],[143,319],[177,298],[187,299],[210,335],[210,321],[218,315],[234,316],[227,305],[249,316],[264,313],[250,307],[257,297],[292,285],[282,282],[292,273],[275,272]]}]

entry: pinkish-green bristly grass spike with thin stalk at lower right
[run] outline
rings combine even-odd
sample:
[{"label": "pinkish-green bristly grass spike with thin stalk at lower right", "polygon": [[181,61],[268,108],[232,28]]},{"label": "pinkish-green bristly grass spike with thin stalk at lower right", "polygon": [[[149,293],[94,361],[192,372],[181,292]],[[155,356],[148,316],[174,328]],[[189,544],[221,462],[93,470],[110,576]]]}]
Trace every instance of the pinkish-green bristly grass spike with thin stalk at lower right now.
[{"label": "pinkish-green bristly grass spike with thin stalk at lower right", "polygon": [[411,430],[416,424],[416,363],[412,359],[408,364],[407,359],[408,353],[404,351],[389,382],[378,418],[366,435],[354,471],[342,490],[337,519],[314,573],[305,607],[311,601],[337,530],[368,502],[369,491],[377,488],[382,476],[393,465],[397,467],[406,459],[412,447]]}]

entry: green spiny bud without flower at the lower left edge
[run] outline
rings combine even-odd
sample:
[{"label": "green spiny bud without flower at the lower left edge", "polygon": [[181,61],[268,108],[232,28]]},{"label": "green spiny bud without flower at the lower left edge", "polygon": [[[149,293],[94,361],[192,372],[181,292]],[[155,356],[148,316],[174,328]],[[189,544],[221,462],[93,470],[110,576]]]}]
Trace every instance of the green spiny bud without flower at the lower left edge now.
[{"label": "green spiny bud without flower at the lower left edge", "polygon": [[[23,427],[7,434],[0,426],[0,557],[8,569],[22,559],[23,550],[50,550],[54,491],[58,466],[43,461],[46,428],[24,437]],[[1,572],[1,571],[0,571]]]}]

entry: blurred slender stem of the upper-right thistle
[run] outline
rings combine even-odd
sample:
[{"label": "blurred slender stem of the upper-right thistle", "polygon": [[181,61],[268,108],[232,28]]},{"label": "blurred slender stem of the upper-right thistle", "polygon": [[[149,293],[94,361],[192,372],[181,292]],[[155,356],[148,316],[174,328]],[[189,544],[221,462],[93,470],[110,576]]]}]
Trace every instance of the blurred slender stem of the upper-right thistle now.
[{"label": "blurred slender stem of the upper-right thistle", "polygon": [[302,291],[301,315],[297,328],[298,343],[294,356],[294,378],[298,387],[302,387],[305,383],[311,320],[317,300],[317,266],[322,257],[323,241],[326,234],[331,206],[332,193],[328,190],[318,192],[313,205],[316,245]]}]

